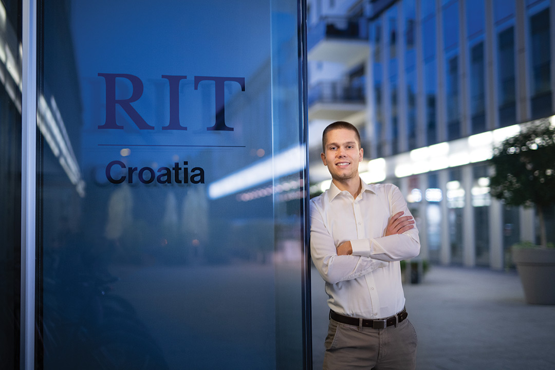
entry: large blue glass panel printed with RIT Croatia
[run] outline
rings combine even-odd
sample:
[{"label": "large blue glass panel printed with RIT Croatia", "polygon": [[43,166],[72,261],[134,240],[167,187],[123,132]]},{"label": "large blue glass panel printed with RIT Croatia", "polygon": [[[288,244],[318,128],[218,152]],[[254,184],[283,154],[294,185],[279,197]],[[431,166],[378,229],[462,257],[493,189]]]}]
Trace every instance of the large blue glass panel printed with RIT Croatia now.
[{"label": "large blue glass panel printed with RIT Croatia", "polygon": [[44,2],[44,369],[305,366],[299,9]]}]

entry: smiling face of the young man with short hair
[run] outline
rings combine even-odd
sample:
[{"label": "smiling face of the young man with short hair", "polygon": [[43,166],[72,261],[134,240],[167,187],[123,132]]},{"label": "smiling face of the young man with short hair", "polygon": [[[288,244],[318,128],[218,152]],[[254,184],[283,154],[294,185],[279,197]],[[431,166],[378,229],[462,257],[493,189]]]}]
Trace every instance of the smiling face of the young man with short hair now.
[{"label": "smiling face of the young man with short hair", "polygon": [[322,161],[334,180],[348,180],[359,177],[359,163],[362,161],[362,148],[355,131],[335,129],[326,134]]}]

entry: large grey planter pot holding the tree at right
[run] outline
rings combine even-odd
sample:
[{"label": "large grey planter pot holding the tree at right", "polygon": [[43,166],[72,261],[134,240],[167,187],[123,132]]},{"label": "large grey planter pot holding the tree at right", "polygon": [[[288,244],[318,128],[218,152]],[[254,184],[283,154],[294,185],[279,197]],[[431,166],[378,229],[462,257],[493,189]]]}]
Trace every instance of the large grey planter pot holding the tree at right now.
[{"label": "large grey planter pot holding the tree at right", "polygon": [[532,305],[555,305],[555,249],[515,248],[513,262]]}]

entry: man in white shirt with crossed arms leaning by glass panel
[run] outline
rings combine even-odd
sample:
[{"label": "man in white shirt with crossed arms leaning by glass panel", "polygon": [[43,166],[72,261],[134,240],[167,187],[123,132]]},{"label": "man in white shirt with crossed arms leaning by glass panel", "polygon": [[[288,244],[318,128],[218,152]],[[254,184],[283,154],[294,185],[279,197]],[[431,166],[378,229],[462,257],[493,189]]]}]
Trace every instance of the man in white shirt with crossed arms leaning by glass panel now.
[{"label": "man in white shirt with crossed arms leaning by glass panel", "polygon": [[355,126],[327,126],[322,149],[332,183],[310,201],[310,250],[329,295],[324,369],[415,369],[399,263],[420,252],[415,222],[395,185],[360,179]]}]

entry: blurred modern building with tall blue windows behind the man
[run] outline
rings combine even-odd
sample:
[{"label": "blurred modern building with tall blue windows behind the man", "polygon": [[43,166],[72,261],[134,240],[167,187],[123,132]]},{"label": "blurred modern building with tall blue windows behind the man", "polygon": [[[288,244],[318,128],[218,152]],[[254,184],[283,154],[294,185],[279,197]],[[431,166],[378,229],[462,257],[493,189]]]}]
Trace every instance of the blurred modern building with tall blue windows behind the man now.
[{"label": "blurred modern building with tall blue windows behind the man", "polygon": [[[400,187],[423,259],[510,267],[511,245],[537,238],[534,211],[492,199],[487,160],[521,124],[553,115],[553,3],[308,3],[311,194],[329,185],[322,129],[351,121],[365,149],[362,178]],[[331,99],[322,85],[340,93]],[[551,209],[549,241],[554,219]]]}]

